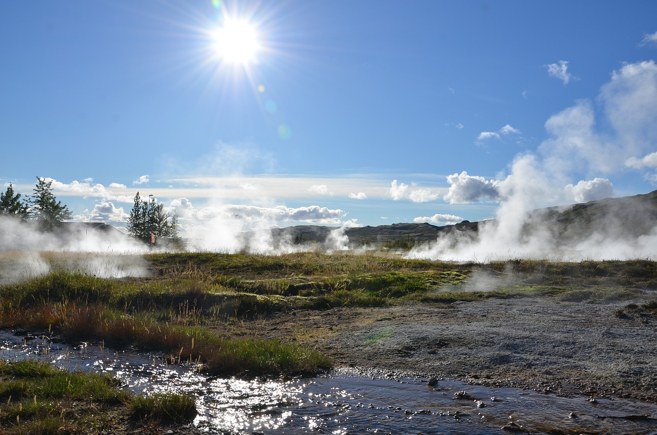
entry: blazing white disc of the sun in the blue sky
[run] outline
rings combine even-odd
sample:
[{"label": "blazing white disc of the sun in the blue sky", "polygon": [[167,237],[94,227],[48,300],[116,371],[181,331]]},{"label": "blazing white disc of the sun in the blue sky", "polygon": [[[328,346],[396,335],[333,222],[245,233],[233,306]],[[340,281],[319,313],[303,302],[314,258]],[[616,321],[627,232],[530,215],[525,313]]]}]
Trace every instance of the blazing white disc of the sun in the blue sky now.
[{"label": "blazing white disc of the sun in the blue sky", "polygon": [[227,62],[246,64],[258,51],[256,30],[246,21],[226,20],[214,34],[217,55]]}]

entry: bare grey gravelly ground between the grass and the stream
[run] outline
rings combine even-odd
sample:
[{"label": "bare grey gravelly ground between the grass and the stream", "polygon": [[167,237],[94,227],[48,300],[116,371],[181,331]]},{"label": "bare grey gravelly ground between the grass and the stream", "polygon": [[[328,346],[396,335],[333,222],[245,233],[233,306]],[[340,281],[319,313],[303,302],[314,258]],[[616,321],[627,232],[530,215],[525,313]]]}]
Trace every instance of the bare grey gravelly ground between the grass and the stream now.
[{"label": "bare grey gravelly ground between the grass and the stream", "polygon": [[657,402],[657,319],[619,317],[626,305],[541,297],[336,308],[244,321],[233,332],[311,346],[336,367]]}]

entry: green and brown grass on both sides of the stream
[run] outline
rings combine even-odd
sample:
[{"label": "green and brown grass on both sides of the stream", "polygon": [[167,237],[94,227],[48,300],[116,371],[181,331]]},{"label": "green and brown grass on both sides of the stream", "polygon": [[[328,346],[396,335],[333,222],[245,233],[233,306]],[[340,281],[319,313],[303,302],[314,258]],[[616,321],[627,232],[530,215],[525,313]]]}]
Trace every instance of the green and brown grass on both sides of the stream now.
[{"label": "green and brown grass on both sides of the stream", "polygon": [[[92,259],[97,269],[89,271],[84,267],[88,256],[41,254],[39,267],[47,273],[0,286],[0,327],[50,331],[70,342],[157,350],[172,361],[195,361],[216,375],[314,375],[332,367],[325,355],[293,342],[231,336],[229,331],[240,323],[248,327],[249,319],[298,310],[527,296],[604,302],[630,300],[657,288],[657,264],[640,260],[457,264],[374,252],[133,257],[107,257],[107,267]],[[142,272],[122,278],[99,273],[118,270],[117,263],[139,264]],[[21,267],[30,266],[17,266],[11,253],[0,255],[0,270]],[[638,312],[632,310],[619,315]],[[87,419],[101,432],[112,415],[125,414],[117,411],[125,407],[140,424],[187,421],[195,413],[193,400],[185,396],[134,398],[110,378],[61,373],[34,362],[22,368],[1,364],[0,434],[86,433],[80,428],[89,427]],[[55,380],[60,377],[64,380]],[[39,383],[47,379],[70,388],[55,392]],[[95,413],[71,408],[79,404],[80,394],[93,398]]]}]

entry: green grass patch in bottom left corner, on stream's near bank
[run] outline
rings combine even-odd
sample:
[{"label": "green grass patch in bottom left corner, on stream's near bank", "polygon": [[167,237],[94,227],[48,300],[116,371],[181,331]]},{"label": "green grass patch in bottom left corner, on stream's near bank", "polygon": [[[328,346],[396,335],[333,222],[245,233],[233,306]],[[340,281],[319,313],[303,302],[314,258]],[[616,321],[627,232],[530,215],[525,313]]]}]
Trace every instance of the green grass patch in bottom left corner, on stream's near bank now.
[{"label": "green grass patch in bottom left corner, on stream's near bank", "polygon": [[196,417],[196,404],[181,394],[133,396],[108,375],[69,372],[31,359],[0,360],[1,434],[115,433],[118,416],[185,423]]}]

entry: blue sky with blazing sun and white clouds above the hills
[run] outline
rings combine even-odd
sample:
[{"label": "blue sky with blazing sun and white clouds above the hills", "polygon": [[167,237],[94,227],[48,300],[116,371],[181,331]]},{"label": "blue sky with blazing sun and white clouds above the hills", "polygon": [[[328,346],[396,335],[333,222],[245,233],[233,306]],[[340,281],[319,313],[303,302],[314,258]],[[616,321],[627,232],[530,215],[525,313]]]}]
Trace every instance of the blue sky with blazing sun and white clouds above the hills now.
[{"label": "blue sky with blazing sun and white clouds above the hills", "polygon": [[183,234],[648,193],[655,16],[653,1],[7,2],[0,183],[30,195],[47,177],[74,220],[117,227],[139,191]]}]

